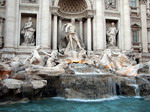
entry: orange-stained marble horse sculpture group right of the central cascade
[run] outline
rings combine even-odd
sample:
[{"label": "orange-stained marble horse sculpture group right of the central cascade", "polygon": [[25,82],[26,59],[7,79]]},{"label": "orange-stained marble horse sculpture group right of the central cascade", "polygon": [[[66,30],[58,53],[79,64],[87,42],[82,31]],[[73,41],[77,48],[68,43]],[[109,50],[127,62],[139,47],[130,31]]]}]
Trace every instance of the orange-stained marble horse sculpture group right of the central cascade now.
[{"label": "orange-stained marble horse sculpture group right of the central cascade", "polygon": [[104,50],[98,61],[101,69],[121,76],[137,76],[138,70],[148,65],[148,63],[135,64],[129,59],[125,51],[115,53],[111,49]]}]

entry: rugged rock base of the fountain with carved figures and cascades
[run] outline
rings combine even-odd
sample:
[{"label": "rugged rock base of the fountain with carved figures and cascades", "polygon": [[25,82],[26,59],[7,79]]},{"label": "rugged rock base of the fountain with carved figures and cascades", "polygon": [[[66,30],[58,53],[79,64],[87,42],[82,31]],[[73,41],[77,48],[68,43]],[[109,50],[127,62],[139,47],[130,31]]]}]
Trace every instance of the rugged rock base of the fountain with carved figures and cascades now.
[{"label": "rugged rock base of the fountain with carved figures and cascades", "polygon": [[[149,62],[136,64],[125,51],[101,54],[84,49],[45,52],[40,46],[24,63],[18,57],[0,63],[1,95],[25,94],[95,99],[114,95],[148,96],[150,76],[141,75]],[[141,73],[139,72],[141,71]],[[149,70],[147,70],[148,73]]]}]

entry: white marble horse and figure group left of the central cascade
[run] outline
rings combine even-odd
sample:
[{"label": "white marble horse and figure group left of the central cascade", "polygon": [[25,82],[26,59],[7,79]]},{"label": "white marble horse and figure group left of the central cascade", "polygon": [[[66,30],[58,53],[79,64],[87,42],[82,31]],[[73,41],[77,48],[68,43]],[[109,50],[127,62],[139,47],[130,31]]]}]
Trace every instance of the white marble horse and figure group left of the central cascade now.
[{"label": "white marble horse and figure group left of the central cascade", "polygon": [[[44,56],[48,57],[46,62],[44,62],[39,52],[42,52]],[[60,75],[65,73],[65,68],[67,68],[68,65],[63,61],[62,63],[56,63],[57,54],[57,51],[52,51],[52,53],[49,54],[45,52],[41,46],[36,46],[36,49],[33,50],[31,56],[24,62],[24,64],[29,65],[26,72],[30,75]]]}]

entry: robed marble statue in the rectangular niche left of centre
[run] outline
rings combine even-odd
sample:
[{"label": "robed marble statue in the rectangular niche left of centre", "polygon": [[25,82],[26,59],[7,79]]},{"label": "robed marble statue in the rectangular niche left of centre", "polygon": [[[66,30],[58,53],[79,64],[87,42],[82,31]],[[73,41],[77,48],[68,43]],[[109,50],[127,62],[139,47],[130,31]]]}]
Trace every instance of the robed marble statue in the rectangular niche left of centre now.
[{"label": "robed marble statue in the rectangular niche left of centre", "polygon": [[23,30],[21,31],[21,34],[24,36],[24,42],[22,45],[35,45],[34,33],[35,28],[33,26],[32,18],[29,17]]}]

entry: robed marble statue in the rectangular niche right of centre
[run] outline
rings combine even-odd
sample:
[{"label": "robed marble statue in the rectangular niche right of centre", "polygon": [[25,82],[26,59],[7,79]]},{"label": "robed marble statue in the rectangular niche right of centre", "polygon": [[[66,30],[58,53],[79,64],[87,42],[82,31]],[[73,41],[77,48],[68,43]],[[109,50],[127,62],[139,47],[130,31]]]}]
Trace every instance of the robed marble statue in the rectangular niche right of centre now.
[{"label": "robed marble statue in the rectangular niche right of centre", "polygon": [[115,23],[112,22],[111,26],[107,30],[107,39],[108,39],[108,46],[116,46],[116,35],[118,33],[118,29],[115,27]]}]

